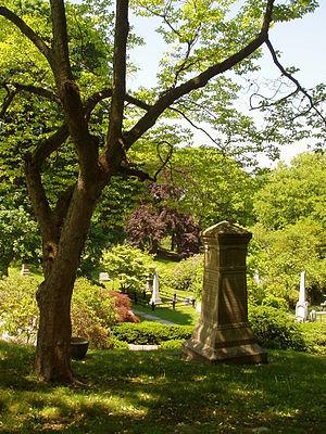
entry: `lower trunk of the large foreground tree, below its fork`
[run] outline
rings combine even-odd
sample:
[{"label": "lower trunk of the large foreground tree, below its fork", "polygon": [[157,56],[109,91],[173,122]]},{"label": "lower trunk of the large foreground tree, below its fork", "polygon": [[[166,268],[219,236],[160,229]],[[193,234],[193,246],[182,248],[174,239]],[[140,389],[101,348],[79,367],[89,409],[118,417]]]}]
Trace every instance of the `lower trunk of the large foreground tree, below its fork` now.
[{"label": "lower trunk of the large foreground tree, below its fork", "polygon": [[73,379],[71,299],[96,201],[97,195],[86,194],[76,187],[51,269],[47,264],[49,271],[37,293],[40,320],[34,370],[42,381],[70,382]]}]

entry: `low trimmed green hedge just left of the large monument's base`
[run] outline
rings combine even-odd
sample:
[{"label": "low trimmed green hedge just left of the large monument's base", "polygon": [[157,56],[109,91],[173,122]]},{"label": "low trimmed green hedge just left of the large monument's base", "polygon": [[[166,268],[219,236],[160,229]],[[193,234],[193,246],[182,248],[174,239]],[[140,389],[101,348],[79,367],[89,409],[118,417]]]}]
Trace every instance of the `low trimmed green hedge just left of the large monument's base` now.
[{"label": "low trimmed green hedge just left of the large monument's base", "polygon": [[122,323],[112,328],[113,336],[135,345],[160,345],[191,336],[193,326],[165,326],[158,322]]}]

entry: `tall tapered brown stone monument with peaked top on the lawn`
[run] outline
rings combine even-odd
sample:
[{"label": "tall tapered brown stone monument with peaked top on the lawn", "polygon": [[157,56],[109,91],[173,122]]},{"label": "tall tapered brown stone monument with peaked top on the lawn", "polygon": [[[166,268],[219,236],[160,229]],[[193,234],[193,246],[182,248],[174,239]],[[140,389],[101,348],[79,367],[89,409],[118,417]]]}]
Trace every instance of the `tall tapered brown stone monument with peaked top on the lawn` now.
[{"label": "tall tapered brown stone monument with peaked top on the lawn", "polygon": [[181,347],[186,360],[263,363],[267,354],[248,322],[246,256],[251,233],[222,221],[202,232],[204,277],[200,319]]}]

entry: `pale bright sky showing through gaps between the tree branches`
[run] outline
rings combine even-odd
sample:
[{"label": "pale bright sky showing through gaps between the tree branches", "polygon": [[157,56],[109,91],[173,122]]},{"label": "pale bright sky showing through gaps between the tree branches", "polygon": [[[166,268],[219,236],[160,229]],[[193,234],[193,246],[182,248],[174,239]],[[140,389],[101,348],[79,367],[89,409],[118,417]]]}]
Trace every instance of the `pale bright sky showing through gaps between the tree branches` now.
[{"label": "pale bright sky showing through gaps between the tree branches", "polygon": [[[131,88],[138,86],[154,86],[155,75],[161,59],[161,53],[165,47],[160,37],[155,34],[155,24],[149,20],[130,17],[130,23],[137,26],[137,34],[146,40],[143,47],[131,52],[131,61],[140,68],[137,77],[131,77],[128,85]],[[305,88],[314,87],[326,80],[326,0],[319,1],[319,8],[314,14],[306,14],[301,20],[290,23],[277,23],[269,31],[269,39],[274,48],[281,52],[281,63],[284,66],[296,66],[300,69],[296,78]],[[260,77],[278,77],[279,72],[273,64],[269,52],[264,50],[261,61]],[[204,135],[197,133],[195,137],[197,144],[206,142]],[[285,146],[281,151],[280,159],[289,163],[298,153],[306,149],[306,143],[296,143]],[[261,164],[273,166],[273,163],[261,157]]]}]

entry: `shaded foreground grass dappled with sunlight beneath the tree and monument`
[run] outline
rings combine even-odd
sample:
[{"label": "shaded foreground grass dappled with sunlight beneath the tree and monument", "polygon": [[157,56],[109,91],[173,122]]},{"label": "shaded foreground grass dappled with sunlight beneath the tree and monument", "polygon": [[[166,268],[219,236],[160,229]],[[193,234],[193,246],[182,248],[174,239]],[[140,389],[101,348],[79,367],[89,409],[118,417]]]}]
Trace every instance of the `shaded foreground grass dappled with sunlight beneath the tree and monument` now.
[{"label": "shaded foreground grass dappled with sunlight beneath the tree and monument", "polygon": [[71,386],[37,382],[33,348],[0,342],[1,433],[325,433],[326,358],[201,365],[177,352],[89,352]]}]

